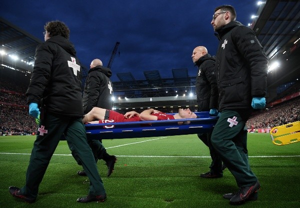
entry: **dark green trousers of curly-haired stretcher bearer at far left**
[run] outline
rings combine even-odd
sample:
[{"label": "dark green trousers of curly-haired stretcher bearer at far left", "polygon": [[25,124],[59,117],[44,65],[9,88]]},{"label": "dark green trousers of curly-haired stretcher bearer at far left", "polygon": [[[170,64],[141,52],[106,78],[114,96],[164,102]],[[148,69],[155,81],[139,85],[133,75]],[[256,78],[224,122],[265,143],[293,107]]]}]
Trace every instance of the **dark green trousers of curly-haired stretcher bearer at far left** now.
[{"label": "dark green trousers of curly-haired stretcher bearer at far left", "polygon": [[98,173],[91,149],[87,144],[82,119],[60,117],[49,113],[43,113],[41,116],[26,172],[26,184],[21,188],[21,194],[30,198],[36,198],[38,186],[63,134],[67,142],[72,145],[72,151],[78,155],[89,178],[89,194],[105,194],[103,182]]}]

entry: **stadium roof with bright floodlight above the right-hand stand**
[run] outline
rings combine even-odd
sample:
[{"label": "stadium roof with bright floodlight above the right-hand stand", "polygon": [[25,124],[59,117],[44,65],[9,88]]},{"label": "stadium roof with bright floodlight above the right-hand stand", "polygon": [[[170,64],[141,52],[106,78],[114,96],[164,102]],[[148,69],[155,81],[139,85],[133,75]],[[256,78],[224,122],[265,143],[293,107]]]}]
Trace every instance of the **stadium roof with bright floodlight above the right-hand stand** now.
[{"label": "stadium roof with bright floodlight above the right-hand stand", "polygon": [[268,88],[300,78],[299,11],[298,0],[268,0],[260,5],[250,26],[265,50],[269,65],[279,66],[268,73]]}]

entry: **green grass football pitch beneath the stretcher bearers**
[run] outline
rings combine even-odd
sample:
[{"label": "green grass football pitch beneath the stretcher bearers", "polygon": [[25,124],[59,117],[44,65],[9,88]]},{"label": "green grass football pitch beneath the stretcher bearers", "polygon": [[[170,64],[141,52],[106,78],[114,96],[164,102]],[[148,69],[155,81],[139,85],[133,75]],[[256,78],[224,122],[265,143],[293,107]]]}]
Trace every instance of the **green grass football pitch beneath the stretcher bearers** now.
[{"label": "green grass football pitch beneath the stretcher bearers", "polygon": [[[106,177],[103,160],[97,167],[107,193],[103,203],[76,202],[88,192],[87,177],[60,141],[39,186],[36,202],[20,202],[8,186],[21,187],[34,136],[0,136],[0,207],[232,207],[223,193],[237,190],[228,169],[216,179],[199,177],[210,164],[208,148],[196,135],[103,140],[117,155],[114,172]],[[10,154],[9,154],[10,153]],[[248,134],[251,169],[261,188],[257,201],[243,207],[300,207],[300,142],[277,146],[267,133]]]}]

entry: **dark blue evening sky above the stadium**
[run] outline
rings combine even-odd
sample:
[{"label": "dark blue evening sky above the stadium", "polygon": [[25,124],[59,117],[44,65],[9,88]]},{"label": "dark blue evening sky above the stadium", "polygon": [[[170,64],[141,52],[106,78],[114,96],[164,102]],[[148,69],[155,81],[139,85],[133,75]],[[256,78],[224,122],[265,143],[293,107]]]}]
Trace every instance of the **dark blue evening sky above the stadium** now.
[{"label": "dark blue evening sky above the stadium", "polygon": [[0,15],[40,40],[46,22],[64,22],[86,67],[95,58],[107,66],[118,41],[112,81],[119,81],[116,73],[125,72],[140,80],[145,79],[143,71],[150,70],[158,70],[161,78],[171,78],[172,69],[188,69],[189,76],[195,76],[192,50],[202,45],[215,55],[218,41],[210,22],[214,8],[224,4],[235,8],[236,20],[244,25],[252,22],[258,9],[252,0],[6,0],[1,2]]}]

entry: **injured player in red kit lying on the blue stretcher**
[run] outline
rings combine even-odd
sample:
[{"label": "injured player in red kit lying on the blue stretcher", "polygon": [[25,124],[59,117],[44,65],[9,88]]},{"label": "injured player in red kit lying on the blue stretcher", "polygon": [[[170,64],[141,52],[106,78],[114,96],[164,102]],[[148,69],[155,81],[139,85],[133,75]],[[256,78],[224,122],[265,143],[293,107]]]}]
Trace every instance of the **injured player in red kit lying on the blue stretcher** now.
[{"label": "injured player in red kit lying on the blue stretcher", "polygon": [[[113,110],[93,107],[91,111],[82,118],[83,123],[116,123],[116,122],[134,122],[134,121],[159,121],[173,119],[197,118],[196,114],[187,109],[178,109],[178,113],[174,115],[165,114],[152,108],[142,111],[140,114],[130,111],[123,114]],[[182,122],[178,122],[182,124]]]}]

